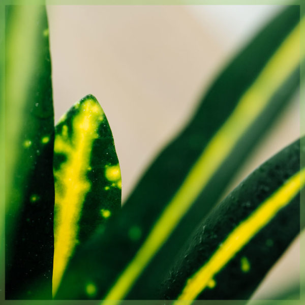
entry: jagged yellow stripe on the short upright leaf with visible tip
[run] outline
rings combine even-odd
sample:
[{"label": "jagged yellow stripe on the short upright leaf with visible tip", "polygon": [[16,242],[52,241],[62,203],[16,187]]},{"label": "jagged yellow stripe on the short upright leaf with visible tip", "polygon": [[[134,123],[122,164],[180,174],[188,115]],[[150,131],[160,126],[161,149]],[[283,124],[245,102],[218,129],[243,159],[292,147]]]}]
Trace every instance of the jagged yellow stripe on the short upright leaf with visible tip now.
[{"label": "jagged yellow stripe on the short upright leaf with visible tip", "polygon": [[55,214],[54,214],[54,263],[53,296],[62,279],[69,257],[77,243],[78,220],[90,181],[86,179],[94,139],[103,119],[103,110],[92,99],[81,104],[73,118],[72,139],[68,138],[68,127],[64,125],[62,134],[56,134],[55,153],[65,153],[67,161],[54,171]]}]

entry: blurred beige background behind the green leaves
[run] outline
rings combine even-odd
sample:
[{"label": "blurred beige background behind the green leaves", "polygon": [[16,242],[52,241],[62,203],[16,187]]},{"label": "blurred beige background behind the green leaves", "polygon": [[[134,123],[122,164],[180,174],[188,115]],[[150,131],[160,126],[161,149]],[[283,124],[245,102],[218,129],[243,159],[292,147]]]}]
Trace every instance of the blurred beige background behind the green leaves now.
[{"label": "blurred beige background behind the green leaves", "polygon": [[[48,6],[55,122],[93,94],[112,129],[123,202],[226,62],[281,6]],[[299,97],[227,189],[300,135]],[[299,238],[253,296],[299,281]]]}]

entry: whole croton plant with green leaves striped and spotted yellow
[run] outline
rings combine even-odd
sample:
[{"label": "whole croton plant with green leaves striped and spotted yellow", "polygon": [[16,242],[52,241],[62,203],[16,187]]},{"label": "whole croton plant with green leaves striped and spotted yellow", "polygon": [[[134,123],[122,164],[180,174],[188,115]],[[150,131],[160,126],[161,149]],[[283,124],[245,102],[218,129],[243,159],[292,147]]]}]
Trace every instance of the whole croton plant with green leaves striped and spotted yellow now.
[{"label": "whole croton plant with green leaves striped and spotted yellow", "polygon": [[232,58],[123,206],[96,98],[54,127],[45,7],[5,20],[6,299],[249,299],[303,227],[302,141],[219,200],[299,87],[299,6]]}]

